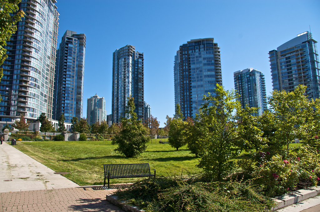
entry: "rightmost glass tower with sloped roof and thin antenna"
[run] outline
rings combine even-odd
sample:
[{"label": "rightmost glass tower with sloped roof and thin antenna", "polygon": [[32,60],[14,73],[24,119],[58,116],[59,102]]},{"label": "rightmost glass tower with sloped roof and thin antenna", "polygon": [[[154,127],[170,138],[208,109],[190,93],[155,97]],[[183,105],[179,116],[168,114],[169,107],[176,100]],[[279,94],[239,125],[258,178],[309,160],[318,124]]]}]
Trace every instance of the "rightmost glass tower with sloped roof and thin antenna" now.
[{"label": "rightmost glass tower with sloped roof and thin antenna", "polygon": [[298,34],[277,48],[269,51],[273,90],[293,91],[302,84],[307,86],[309,98],[319,98],[319,55],[317,41],[309,32]]}]

